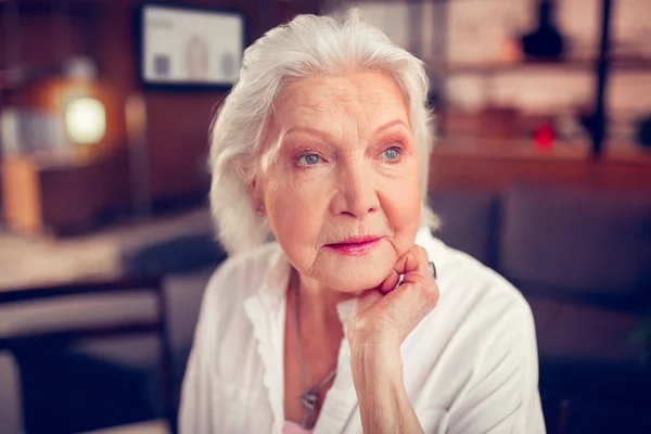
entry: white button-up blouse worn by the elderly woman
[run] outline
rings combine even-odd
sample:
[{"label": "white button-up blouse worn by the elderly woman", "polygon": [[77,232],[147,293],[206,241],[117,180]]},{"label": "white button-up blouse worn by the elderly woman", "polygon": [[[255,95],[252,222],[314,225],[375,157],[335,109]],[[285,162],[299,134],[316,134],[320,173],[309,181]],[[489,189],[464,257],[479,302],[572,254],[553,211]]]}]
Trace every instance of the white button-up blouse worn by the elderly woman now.
[{"label": "white button-up blouse worn by the elderly woman", "polygon": [[[416,242],[436,264],[441,289],[436,308],[401,346],[405,386],[424,432],[544,433],[525,299],[427,229]],[[230,257],[210,279],[183,381],[181,434],[282,433],[290,269],[270,243]],[[354,304],[337,306],[344,328]],[[345,335],[315,434],[362,432]]]}]

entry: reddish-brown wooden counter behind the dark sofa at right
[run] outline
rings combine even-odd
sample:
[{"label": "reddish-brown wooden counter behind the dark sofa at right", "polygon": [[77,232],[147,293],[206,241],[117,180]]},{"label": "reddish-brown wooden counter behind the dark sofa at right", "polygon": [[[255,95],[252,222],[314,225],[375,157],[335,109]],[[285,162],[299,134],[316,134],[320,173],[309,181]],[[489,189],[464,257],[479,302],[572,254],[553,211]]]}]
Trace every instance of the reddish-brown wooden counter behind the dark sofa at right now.
[{"label": "reddish-brown wooden counter behind the dark sofa at right", "polygon": [[651,193],[651,152],[617,144],[590,158],[582,143],[558,144],[546,152],[531,141],[444,140],[430,164],[430,189],[499,193],[513,182]]}]

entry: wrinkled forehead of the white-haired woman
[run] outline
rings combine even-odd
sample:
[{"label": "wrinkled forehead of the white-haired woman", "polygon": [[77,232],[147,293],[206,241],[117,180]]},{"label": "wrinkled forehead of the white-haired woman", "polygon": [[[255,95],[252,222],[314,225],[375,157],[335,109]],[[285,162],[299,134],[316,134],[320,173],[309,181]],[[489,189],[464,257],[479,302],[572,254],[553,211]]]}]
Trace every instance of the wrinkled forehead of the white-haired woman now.
[{"label": "wrinkled forehead of the white-haired woman", "polygon": [[403,120],[409,125],[407,101],[396,81],[378,72],[315,75],[289,84],[275,102],[275,124],[331,127],[350,120],[357,128]]}]

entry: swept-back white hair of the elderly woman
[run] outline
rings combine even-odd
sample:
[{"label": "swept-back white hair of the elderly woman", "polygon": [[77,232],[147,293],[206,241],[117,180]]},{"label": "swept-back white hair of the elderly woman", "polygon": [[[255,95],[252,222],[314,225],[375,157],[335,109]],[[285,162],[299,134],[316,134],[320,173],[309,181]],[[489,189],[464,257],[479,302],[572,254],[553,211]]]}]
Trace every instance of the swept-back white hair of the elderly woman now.
[{"label": "swept-back white hair of the elderly woman", "polygon": [[210,136],[210,208],[217,235],[229,253],[258,245],[270,235],[247,194],[273,101],[290,80],[314,74],[379,71],[403,90],[419,155],[421,225],[437,226],[427,205],[432,150],[427,76],[423,63],[394,44],[353,10],[345,21],[298,15],[265,34],[244,51],[240,77],[217,112]]}]

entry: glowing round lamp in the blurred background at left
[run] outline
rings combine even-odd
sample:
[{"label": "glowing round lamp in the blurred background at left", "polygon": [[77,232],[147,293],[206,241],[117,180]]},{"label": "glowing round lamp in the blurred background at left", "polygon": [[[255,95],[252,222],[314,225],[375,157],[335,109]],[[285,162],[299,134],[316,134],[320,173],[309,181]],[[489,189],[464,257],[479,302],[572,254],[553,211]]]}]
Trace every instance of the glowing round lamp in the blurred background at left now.
[{"label": "glowing round lamp in the blurred background at left", "polygon": [[65,128],[75,143],[93,144],[106,132],[104,105],[92,98],[78,98],[65,107]]}]

